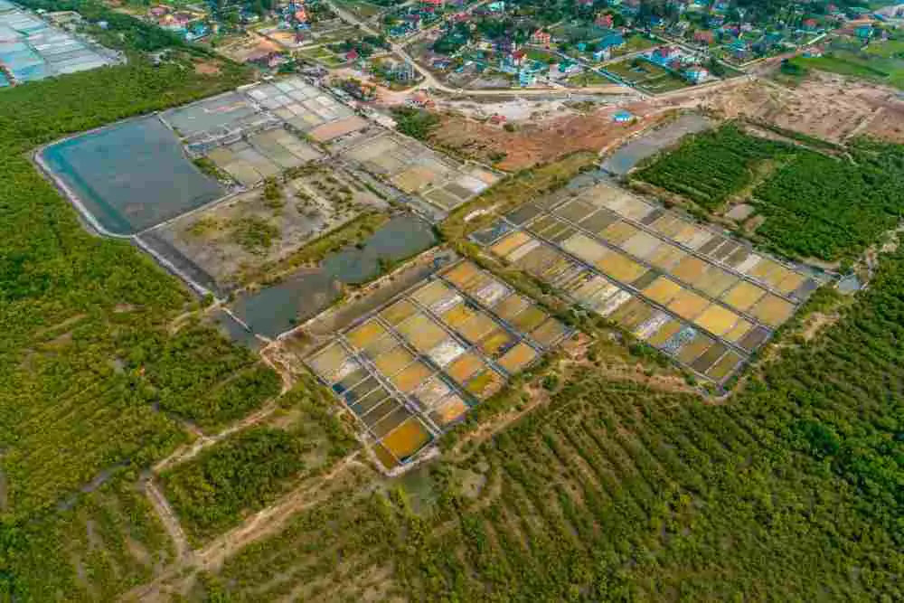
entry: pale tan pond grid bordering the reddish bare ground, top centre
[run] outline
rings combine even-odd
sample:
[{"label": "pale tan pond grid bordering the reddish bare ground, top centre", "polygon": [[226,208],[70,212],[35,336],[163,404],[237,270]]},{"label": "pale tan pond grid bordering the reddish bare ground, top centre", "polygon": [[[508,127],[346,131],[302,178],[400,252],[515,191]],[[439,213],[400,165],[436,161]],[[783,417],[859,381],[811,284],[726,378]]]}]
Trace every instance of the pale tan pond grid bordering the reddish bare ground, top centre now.
[{"label": "pale tan pond grid bordering the reddish bare ground, top centre", "polygon": [[341,149],[340,155],[441,212],[470,201],[499,180],[484,167],[461,164],[391,132],[364,137]]}]

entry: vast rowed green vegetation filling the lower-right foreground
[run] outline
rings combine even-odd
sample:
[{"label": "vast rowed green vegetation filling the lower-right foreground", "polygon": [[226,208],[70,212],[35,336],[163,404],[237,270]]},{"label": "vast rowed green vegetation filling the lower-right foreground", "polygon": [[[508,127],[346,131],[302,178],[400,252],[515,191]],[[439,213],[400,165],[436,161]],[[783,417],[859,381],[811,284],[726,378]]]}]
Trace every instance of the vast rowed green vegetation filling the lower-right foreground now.
[{"label": "vast rowed green vegetation filling the lower-right foreground", "polygon": [[388,497],[339,495],[203,589],[271,600],[898,600],[902,316],[899,252],[838,325],[788,348],[730,404],[581,372],[549,407],[434,466],[427,485],[421,475]]}]

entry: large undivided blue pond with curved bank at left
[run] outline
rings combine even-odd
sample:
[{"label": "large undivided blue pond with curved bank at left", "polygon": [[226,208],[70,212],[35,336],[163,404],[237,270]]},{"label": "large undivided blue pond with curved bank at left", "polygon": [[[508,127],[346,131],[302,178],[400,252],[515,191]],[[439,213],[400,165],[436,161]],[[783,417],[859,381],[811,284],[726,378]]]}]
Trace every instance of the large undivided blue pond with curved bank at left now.
[{"label": "large undivided blue pond with curved bank at left", "polygon": [[41,158],[100,227],[114,234],[144,231],[225,194],[154,116],[63,140],[45,148]]}]

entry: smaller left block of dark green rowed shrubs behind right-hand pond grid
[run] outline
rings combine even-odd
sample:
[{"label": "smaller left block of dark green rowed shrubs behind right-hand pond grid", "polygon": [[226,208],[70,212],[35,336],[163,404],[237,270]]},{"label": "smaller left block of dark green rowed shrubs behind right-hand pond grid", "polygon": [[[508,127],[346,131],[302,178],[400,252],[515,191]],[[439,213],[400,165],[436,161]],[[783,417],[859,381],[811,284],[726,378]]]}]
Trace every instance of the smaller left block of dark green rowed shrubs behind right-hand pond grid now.
[{"label": "smaller left block of dark green rowed shrubs behind right-hand pond grid", "polygon": [[636,178],[715,211],[753,182],[759,162],[790,151],[786,145],[749,137],[729,124],[688,137],[673,152],[639,170]]}]

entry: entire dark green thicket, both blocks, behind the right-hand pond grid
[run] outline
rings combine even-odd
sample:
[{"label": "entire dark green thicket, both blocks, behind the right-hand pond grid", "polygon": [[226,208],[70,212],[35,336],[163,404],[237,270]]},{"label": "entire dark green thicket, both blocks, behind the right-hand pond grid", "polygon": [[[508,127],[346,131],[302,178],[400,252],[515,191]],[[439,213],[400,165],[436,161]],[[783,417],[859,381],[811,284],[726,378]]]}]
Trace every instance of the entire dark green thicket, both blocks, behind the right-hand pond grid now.
[{"label": "entire dark green thicket, both blocks, behind the right-hand pond grid", "polygon": [[904,211],[904,147],[858,141],[836,158],[752,137],[733,124],[685,140],[636,178],[710,212],[749,193],[767,218],[755,238],[797,257],[856,256],[894,228]]}]

